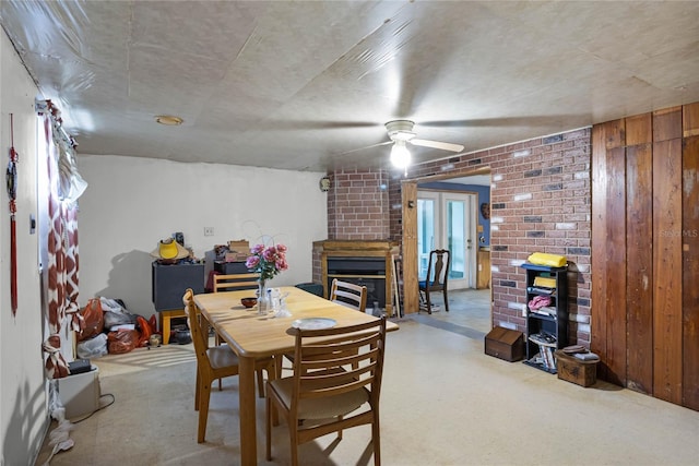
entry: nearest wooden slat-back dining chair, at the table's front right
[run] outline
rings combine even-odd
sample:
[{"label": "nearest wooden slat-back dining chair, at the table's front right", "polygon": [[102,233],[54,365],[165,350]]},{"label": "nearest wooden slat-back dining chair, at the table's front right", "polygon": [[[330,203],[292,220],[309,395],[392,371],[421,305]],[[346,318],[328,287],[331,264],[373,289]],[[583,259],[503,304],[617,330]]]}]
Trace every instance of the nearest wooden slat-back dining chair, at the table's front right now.
[{"label": "nearest wooden slat-back dining chair, at the table's front right", "polygon": [[[298,464],[298,445],[331,432],[342,439],[343,429],[363,425],[371,426],[374,464],[380,465],[386,318],[289,333],[295,337],[294,373],[266,383],[266,459],[272,459],[272,423],[280,413],[289,430],[292,465]],[[330,342],[318,343],[318,337]]]}]

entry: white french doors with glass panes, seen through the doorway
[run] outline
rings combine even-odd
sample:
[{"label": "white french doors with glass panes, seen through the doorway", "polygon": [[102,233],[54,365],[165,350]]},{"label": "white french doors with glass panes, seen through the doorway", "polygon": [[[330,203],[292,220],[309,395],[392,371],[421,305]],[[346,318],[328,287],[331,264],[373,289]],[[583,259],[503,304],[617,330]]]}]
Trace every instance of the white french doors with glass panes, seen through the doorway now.
[{"label": "white french doors with glass panes, seen through the doorway", "polygon": [[429,251],[451,254],[449,289],[476,287],[476,194],[417,191],[417,276],[427,276]]}]

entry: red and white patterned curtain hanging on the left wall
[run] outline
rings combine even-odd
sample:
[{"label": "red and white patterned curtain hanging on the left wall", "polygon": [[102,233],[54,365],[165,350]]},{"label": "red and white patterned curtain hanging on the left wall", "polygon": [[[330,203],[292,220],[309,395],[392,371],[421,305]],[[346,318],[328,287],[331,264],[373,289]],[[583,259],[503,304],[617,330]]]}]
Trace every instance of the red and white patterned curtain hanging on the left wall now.
[{"label": "red and white patterned curtain hanging on the left wall", "polygon": [[49,336],[44,342],[46,373],[49,379],[68,375],[68,365],[60,353],[61,322],[71,315],[71,326],[83,326],[78,306],[78,204],[86,183],[75,169],[74,143],[60,128],[58,111],[50,100],[37,101],[44,119],[48,168],[48,323]]}]

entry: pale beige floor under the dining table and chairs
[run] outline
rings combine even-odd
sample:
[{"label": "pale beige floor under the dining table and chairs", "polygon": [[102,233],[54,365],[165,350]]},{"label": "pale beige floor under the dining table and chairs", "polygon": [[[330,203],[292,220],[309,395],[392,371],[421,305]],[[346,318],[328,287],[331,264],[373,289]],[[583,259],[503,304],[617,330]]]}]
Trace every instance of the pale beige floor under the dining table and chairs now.
[{"label": "pale beige floor under the dining table and chairs", "polygon": [[[453,302],[453,304],[452,304]],[[484,306],[485,303],[485,306]],[[381,393],[386,465],[694,465],[699,413],[597,382],[583,389],[484,354],[489,290],[454,292],[450,312],[412,314],[389,334]],[[214,391],[206,443],[198,444],[190,345],[137,349],[93,361],[115,403],[74,425],[74,446],[51,465],[236,465],[237,378]],[[110,396],[104,396],[107,404]],[[264,458],[288,464],[286,426]],[[367,465],[369,427],[300,447],[303,465]],[[45,446],[37,464],[48,456]]]}]

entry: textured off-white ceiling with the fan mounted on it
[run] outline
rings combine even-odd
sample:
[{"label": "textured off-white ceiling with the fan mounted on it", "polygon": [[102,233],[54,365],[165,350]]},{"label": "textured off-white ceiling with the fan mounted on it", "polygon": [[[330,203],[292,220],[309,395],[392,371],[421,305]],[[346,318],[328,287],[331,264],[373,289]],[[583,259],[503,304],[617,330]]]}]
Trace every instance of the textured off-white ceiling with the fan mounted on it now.
[{"label": "textured off-white ceiling with the fan mounted on it", "polygon": [[85,154],[388,168],[393,119],[471,152],[699,101],[696,1],[2,1],[0,21]]}]

